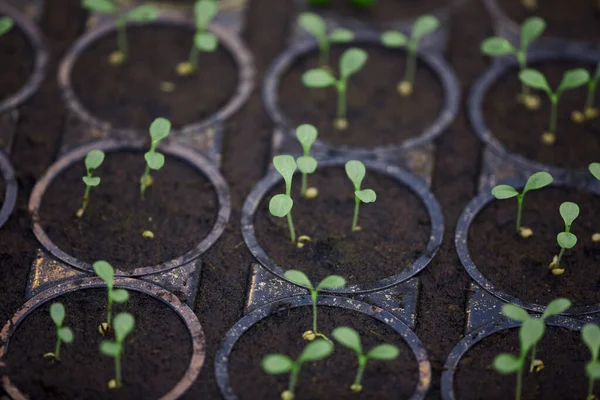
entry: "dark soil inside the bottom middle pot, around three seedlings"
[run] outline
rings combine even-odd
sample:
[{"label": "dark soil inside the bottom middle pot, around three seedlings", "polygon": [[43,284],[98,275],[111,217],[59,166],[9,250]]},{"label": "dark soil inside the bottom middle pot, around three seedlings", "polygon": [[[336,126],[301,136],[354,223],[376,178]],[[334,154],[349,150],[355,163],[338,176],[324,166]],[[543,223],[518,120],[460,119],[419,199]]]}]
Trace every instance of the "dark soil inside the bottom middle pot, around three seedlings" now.
[{"label": "dark soil inside the bottom middle pot, around three seedlings", "polygon": [[[302,366],[296,386],[296,398],[302,399],[408,399],[413,394],[418,364],[410,348],[393,329],[376,319],[340,308],[318,308],[319,329],[330,337],[338,326],[356,329],[363,349],[391,343],[400,349],[393,361],[369,361],[360,395],[350,390],[358,363],[352,350],[335,344],[334,353],[315,363]],[[236,344],[229,360],[229,376],[241,399],[278,399],[287,389],[289,374],[271,376],[260,366],[271,353],[283,353],[296,359],[308,343],[302,333],[312,328],[312,307],[282,310],[255,325]]]}]

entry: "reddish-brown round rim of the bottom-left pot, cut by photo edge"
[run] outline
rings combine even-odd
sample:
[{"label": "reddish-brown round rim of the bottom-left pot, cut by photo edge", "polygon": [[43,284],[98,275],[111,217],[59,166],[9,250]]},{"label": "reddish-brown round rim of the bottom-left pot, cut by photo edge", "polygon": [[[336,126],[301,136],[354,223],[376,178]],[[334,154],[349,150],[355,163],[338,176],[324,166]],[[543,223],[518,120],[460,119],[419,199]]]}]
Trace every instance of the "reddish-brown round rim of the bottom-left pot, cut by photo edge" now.
[{"label": "reddish-brown round rim of the bottom-left pot, cut by photo edge", "polygon": [[[115,287],[143,293],[147,296],[153,297],[155,300],[163,302],[167,306],[171,307],[171,309],[179,316],[179,318],[182,319],[183,323],[185,324],[192,342],[192,356],[190,358],[188,369],[179,382],[177,382],[177,384],[168,393],[160,397],[160,399],[163,400],[179,398],[189,389],[189,387],[198,377],[206,356],[204,332],[198,317],[196,317],[194,312],[187,305],[179,301],[177,296],[149,282],[138,279],[115,278],[114,285]],[[47,289],[28,300],[21,306],[21,308],[19,308],[19,310],[6,323],[6,325],[4,325],[2,331],[0,331],[0,339],[2,342],[4,342],[2,347],[0,347],[0,366],[5,365],[1,360],[7,354],[10,337],[15,332],[18,325],[23,322],[23,320],[26,319],[35,309],[41,307],[56,297],[68,293],[78,290],[105,287],[106,284],[99,278],[75,279]],[[28,398],[19,390],[19,388],[17,388],[14,383],[12,383],[8,375],[2,376],[2,385],[11,398],[15,400],[24,400]]]}]

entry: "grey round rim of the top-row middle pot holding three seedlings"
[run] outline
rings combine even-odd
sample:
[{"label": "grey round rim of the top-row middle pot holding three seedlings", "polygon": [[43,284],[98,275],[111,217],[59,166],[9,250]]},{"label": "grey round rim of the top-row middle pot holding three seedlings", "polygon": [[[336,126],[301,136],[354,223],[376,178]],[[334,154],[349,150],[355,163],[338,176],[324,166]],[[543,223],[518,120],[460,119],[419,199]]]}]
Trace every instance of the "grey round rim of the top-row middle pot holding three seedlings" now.
[{"label": "grey round rim of the top-row middle pot holding three seedlings", "polygon": [[[354,40],[350,43],[345,43],[344,45],[348,46],[351,44],[370,44],[384,47],[381,44],[378,35],[368,32],[355,32]],[[286,134],[291,136],[294,140],[295,124],[279,105],[279,86],[283,76],[289,71],[298,58],[313,51],[317,51],[318,48],[318,43],[314,40],[304,41],[298,45],[289,47],[271,64],[263,84],[262,98],[267,114],[269,114],[272,121],[277,125],[282,126],[286,131]],[[392,51],[404,52],[403,49],[393,49]],[[444,92],[442,108],[431,125],[420,132],[419,135],[406,139],[400,144],[372,148],[339,147],[330,145],[317,138],[314,144],[316,148],[327,151],[363,153],[365,155],[375,153],[394,155],[401,151],[407,151],[422,146],[440,136],[448,126],[450,126],[458,114],[460,105],[460,87],[458,79],[452,67],[436,52],[417,51],[417,57],[427,65],[427,68],[433,71]]]}]

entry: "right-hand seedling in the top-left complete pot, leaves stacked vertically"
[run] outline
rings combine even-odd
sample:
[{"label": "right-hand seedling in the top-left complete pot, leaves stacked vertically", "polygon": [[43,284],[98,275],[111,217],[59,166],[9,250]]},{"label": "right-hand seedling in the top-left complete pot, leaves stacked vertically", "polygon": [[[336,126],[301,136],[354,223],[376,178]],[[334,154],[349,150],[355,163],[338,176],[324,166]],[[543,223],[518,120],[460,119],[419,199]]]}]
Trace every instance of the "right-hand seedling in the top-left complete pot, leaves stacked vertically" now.
[{"label": "right-hand seedling in the top-left complete pot, leaves stacked vertically", "polygon": [[198,69],[200,52],[213,52],[217,49],[219,39],[206,30],[208,23],[219,12],[219,3],[214,0],[197,0],[194,4],[194,16],[196,18],[196,33],[190,50],[188,61],[177,64],[177,74],[188,76]]}]

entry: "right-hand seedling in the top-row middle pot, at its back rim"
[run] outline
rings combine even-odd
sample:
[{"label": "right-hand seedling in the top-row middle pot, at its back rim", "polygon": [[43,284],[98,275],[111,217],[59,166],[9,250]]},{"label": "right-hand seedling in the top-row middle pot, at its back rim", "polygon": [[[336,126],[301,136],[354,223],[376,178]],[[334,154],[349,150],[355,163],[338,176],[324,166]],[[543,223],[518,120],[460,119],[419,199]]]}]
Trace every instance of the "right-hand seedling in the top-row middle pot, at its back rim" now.
[{"label": "right-hand seedling in the top-row middle pot, at its back rim", "polygon": [[410,38],[398,31],[387,31],[381,35],[381,42],[387,47],[406,47],[408,57],[404,79],[398,84],[398,93],[409,96],[413,92],[415,74],[417,71],[417,48],[419,41],[440,26],[433,15],[422,15],[415,21]]}]

